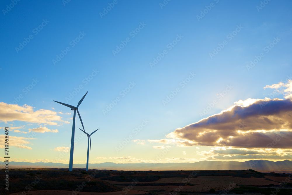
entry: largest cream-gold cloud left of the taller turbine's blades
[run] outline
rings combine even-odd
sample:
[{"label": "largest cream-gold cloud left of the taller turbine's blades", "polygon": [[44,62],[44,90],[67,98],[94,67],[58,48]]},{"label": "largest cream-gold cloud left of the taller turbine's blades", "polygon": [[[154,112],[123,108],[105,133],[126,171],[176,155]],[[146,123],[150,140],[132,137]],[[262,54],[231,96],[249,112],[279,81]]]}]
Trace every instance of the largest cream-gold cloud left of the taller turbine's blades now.
[{"label": "largest cream-gold cloud left of the taller turbine's blades", "polygon": [[63,121],[56,112],[51,110],[40,109],[34,111],[34,107],[23,105],[19,106],[17,104],[7,104],[0,102],[0,121],[25,121],[37,124],[48,124],[48,125],[58,125],[57,122],[61,121],[69,123],[68,121]]}]

